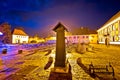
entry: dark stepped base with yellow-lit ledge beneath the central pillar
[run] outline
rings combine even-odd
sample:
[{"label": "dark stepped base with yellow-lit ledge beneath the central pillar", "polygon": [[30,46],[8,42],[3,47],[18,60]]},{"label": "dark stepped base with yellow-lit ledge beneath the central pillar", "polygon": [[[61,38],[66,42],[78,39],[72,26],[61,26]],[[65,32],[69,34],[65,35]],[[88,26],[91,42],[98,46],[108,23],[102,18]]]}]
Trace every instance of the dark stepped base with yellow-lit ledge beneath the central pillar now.
[{"label": "dark stepped base with yellow-lit ledge beneath the central pillar", "polygon": [[51,68],[51,72],[48,80],[72,80],[71,66],[69,63],[66,67],[54,67]]}]

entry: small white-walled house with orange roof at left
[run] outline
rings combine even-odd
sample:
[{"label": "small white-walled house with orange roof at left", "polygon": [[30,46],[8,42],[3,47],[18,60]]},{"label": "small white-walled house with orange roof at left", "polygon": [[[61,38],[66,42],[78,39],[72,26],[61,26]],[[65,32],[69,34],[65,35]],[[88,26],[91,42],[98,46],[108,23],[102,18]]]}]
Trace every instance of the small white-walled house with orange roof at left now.
[{"label": "small white-walled house with orange roof at left", "polygon": [[20,29],[14,29],[12,34],[12,43],[28,43],[29,36]]}]

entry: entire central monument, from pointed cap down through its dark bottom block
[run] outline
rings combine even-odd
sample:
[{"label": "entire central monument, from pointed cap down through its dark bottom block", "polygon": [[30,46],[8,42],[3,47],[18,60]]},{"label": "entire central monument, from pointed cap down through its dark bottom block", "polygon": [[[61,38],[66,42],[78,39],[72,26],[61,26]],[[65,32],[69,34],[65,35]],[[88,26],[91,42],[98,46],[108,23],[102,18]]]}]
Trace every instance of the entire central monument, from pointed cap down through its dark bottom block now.
[{"label": "entire central monument, from pointed cap down through its dark bottom block", "polygon": [[65,28],[60,22],[53,29],[56,32],[56,54],[54,68],[48,80],[72,80],[71,66],[66,59]]}]

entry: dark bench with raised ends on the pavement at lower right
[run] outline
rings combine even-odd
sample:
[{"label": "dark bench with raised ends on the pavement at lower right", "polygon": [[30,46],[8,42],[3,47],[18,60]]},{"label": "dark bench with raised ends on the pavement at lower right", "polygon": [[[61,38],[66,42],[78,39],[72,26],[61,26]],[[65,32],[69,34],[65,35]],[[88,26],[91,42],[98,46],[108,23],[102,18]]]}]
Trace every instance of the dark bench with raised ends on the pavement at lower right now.
[{"label": "dark bench with raised ends on the pavement at lower right", "polygon": [[92,62],[89,65],[89,73],[90,75],[94,75],[95,73],[99,74],[112,74],[112,76],[115,76],[114,68],[109,63],[109,65],[93,65]]}]

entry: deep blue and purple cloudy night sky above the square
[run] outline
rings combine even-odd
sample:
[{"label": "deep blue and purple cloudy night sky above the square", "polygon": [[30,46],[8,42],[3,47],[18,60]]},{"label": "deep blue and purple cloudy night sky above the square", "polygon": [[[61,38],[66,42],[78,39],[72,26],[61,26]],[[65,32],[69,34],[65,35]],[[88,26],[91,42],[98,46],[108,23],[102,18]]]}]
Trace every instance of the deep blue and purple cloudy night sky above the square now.
[{"label": "deep blue and purple cloudy night sky above the square", "polygon": [[68,30],[75,27],[100,28],[120,11],[120,0],[0,0],[0,23],[41,37],[52,34],[57,22]]}]

